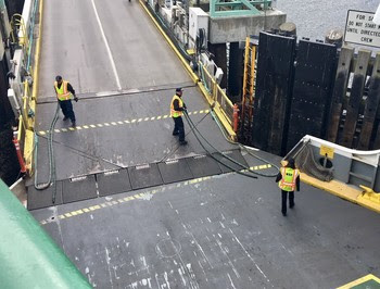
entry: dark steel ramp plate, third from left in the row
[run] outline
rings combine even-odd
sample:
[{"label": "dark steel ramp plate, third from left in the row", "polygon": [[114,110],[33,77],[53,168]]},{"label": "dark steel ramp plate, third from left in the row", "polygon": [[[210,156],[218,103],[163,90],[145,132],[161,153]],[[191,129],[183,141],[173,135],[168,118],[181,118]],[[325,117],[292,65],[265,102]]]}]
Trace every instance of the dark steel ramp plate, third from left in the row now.
[{"label": "dark steel ramp plate, third from left in the row", "polygon": [[100,197],[126,192],[132,189],[127,169],[115,169],[97,174],[97,180]]}]

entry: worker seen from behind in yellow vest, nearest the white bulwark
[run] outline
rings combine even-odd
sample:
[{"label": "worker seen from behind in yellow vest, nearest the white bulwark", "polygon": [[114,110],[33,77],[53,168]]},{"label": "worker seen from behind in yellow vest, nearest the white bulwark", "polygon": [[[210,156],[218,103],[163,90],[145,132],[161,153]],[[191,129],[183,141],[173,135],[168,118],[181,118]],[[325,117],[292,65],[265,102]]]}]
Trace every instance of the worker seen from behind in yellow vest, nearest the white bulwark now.
[{"label": "worker seen from behind in yellow vest, nearest the white bulwark", "polygon": [[300,171],[295,168],[294,160],[289,159],[287,166],[280,168],[276,177],[276,183],[281,189],[282,194],[282,215],[287,215],[287,201],[289,193],[289,208],[294,206],[294,190],[300,191]]}]

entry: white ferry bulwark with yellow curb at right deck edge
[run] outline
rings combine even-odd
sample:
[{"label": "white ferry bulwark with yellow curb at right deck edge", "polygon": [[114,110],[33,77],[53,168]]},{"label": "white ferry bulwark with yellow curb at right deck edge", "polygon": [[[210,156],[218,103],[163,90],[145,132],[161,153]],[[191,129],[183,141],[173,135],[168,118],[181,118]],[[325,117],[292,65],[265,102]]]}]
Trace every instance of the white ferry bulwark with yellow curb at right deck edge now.
[{"label": "white ferry bulwark with yellow curb at right deck edge", "polygon": [[380,150],[347,149],[307,135],[289,158],[306,174],[305,183],[380,213]]}]

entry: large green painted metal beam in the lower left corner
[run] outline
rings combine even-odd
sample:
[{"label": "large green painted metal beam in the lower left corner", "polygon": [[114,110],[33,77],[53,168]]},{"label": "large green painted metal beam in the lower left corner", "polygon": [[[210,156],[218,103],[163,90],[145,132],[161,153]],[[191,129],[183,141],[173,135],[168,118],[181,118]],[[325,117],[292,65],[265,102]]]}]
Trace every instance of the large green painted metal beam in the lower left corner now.
[{"label": "large green painted metal beam in the lower left corner", "polygon": [[0,179],[0,287],[92,288]]}]

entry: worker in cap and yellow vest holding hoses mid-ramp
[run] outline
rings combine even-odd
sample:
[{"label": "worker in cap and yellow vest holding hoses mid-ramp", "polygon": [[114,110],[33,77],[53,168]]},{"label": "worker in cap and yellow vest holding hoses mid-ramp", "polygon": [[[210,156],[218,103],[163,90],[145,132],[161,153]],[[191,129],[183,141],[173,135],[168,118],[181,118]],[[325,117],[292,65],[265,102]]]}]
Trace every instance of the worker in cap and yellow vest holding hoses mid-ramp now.
[{"label": "worker in cap and yellow vest holding hoses mid-ramp", "polygon": [[185,140],[185,127],[182,121],[182,113],[186,111],[186,104],[183,103],[182,88],[176,88],[176,95],[174,95],[170,104],[170,117],[174,121],[173,136],[179,136],[179,144],[185,146],[188,142]]}]

